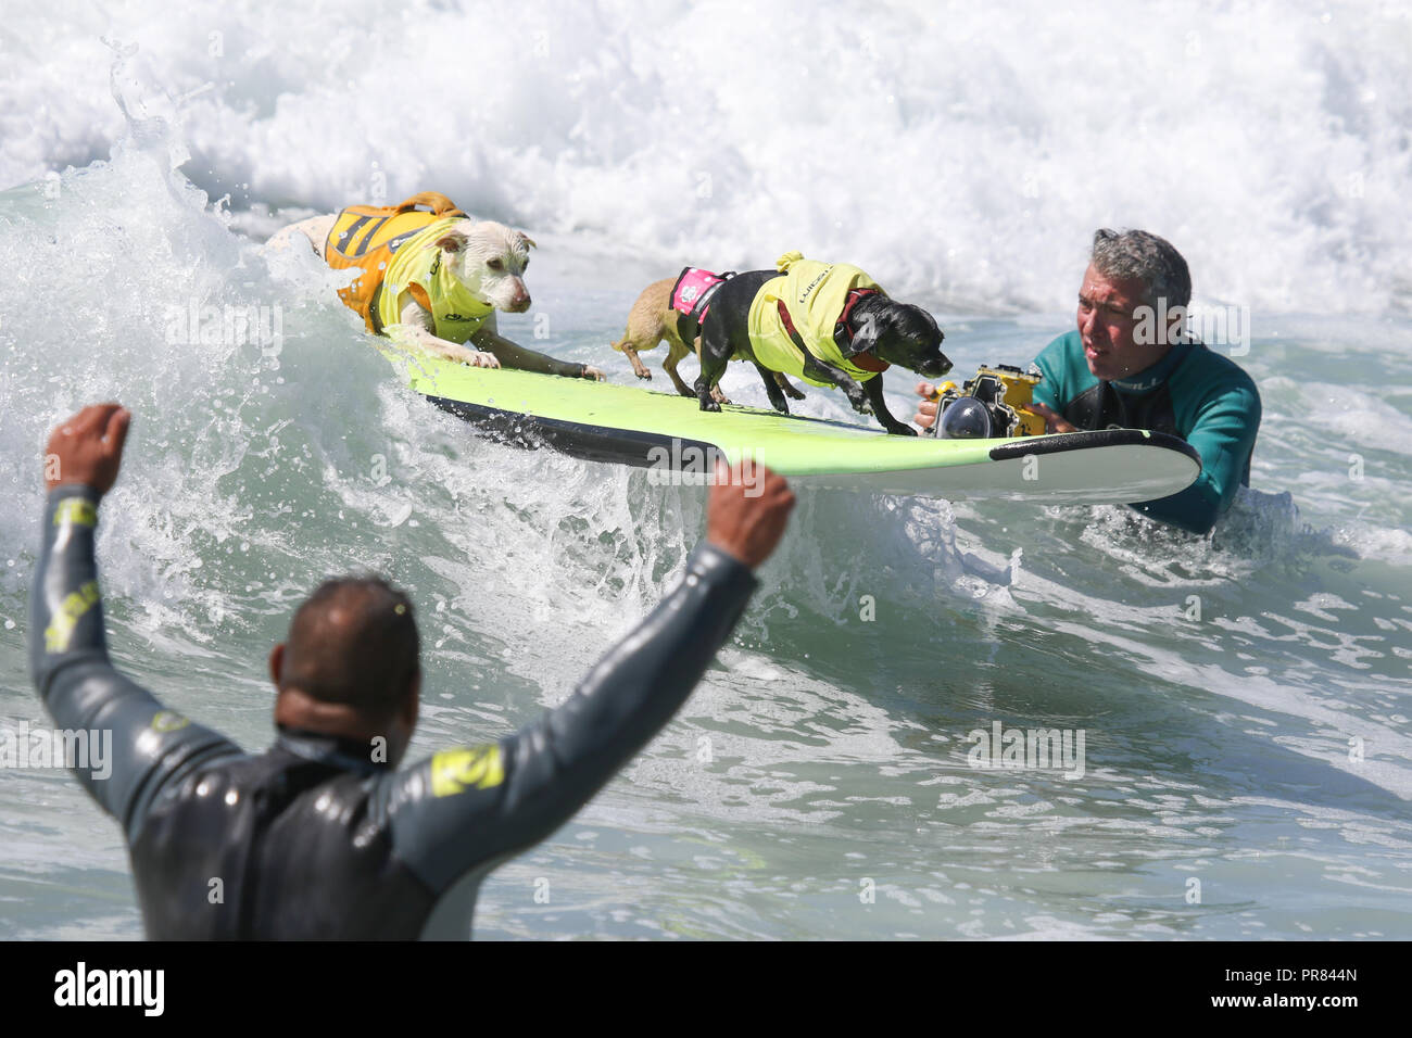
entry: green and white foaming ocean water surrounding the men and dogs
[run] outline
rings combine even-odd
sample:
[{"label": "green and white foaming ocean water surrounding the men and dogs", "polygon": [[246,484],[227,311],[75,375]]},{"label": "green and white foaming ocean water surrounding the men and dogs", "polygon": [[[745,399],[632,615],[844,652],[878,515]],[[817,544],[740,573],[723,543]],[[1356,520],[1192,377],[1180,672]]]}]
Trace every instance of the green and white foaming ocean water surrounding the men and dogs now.
[{"label": "green and white foaming ocean water surrounding the men and dogs", "polygon": [[[263,251],[289,220],[433,188],[513,222],[535,304],[503,332],[620,383],[642,285],[788,249],[928,305],[959,371],[1027,363],[1091,230],[1142,226],[1248,311],[1265,419],[1216,534],[802,493],[698,692],[493,874],[476,933],[1409,938],[1409,52],[1377,3],[8,4],[0,727],[45,723],[40,453],[95,400],[136,414],[113,657],[251,750],[328,573],[418,603],[415,754],[561,702],[679,575],[700,490],[402,390],[335,275]],[[743,367],[726,390],[764,404]],[[997,723],[1082,733],[1082,774],[973,767]],[[141,936],[117,826],[62,771],[0,770],[0,936]]]}]

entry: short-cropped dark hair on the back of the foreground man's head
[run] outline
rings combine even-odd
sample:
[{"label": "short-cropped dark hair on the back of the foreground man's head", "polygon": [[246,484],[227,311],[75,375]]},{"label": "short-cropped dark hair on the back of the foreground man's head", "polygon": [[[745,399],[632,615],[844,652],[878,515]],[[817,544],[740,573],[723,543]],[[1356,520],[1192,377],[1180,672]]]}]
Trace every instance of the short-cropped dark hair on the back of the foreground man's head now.
[{"label": "short-cropped dark hair on the back of the foreground man's head", "polygon": [[419,660],[407,595],[378,576],[340,576],[321,583],[295,612],[280,688],[381,720],[402,706]]}]

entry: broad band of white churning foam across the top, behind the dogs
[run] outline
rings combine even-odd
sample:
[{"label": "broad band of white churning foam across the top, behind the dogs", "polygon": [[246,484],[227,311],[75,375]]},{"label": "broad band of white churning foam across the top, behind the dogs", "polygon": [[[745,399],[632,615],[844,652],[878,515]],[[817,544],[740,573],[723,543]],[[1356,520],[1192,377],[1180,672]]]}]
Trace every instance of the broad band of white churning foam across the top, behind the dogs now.
[{"label": "broad band of white churning foam across the top, behind the dogs", "polygon": [[1067,305],[1128,225],[1257,336],[1412,298],[1401,4],[137,0],[0,32],[0,185],[123,133],[106,37],[246,215],[435,188],[664,270],[798,247],[973,312]]}]

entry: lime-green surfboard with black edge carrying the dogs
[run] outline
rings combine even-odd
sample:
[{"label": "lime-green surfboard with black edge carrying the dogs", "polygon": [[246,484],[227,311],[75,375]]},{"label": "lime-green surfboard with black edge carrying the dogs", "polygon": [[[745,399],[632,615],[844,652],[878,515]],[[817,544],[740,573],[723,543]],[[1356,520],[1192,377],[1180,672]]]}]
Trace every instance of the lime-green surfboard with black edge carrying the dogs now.
[{"label": "lime-green surfboard with black edge carrying the dogs", "polygon": [[[716,458],[791,482],[880,494],[1048,503],[1147,501],[1186,489],[1196,451],[1161,432],[1103,429],[1017,439],[891,436],[878,428],[695,400],[585,378],[483,369],[378,343],[408,386],[491,435],[692,482]],[[826,390],[819,390],[820,393]],[[867,418],[864,421],[873,421]]]}]

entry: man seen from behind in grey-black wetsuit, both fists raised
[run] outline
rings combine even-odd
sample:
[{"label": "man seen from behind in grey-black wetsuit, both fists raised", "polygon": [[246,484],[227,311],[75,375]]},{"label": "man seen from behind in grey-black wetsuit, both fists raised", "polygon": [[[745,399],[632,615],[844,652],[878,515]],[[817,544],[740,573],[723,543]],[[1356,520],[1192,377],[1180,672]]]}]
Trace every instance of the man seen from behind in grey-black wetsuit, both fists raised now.
[{"label": "man seen from behind in grey-black wetsuit, both fists raised", "polygon": [[109,661],[93,537],[130,421],[100,404],[49,441],[30,655],[58,729],[113,734],[110,775],[75,774],[123,826],[160,939],[469,936],[486,874],[563,825],[686,700],[794,507],[762,466],[717,469],[681,583],[568,702],[402,771],[422,675],[412,603],[377,578],[330,580],[270,655],[277,734],[251,756]]}]

